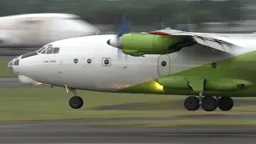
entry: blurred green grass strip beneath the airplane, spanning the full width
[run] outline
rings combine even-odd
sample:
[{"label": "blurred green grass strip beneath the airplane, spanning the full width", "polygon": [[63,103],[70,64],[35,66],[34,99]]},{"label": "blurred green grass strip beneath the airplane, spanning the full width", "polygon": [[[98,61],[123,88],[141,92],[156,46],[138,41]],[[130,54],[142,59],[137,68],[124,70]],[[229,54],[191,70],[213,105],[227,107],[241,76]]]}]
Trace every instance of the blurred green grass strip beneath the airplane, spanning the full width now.
[{"label": "blurred green grass strip beneath the airplane, spanning the full width", "polygon": [[[172,109],[171,106],[162,106],[162,102],[183,100],[183,96],[154,95],[154,94],[112,94],[78,90],[78,95],[84,99],[82,109],[71,109],[68,102],[70,93],[64,88],[50,89],[37,88],[7,88],[0,89],[0,121],[27,121],[27,120],[60,120],[60,119],[118,119],[118,118],[174,118],[183,117],[185,121],[158,121],[158,122],[129,122],[119,123],[115,126],[188,126],[188,125],[256,125],[254,120],[234,120],[232,122],[212,121],[210,118],[198,121],[190,118],[198,115],[229,115],[229,114],[255,114],[256,106],[238,106],[229,112],[216,110],[208,113],[203,110],[190,112],[183,106]],[[138,110],[94,110],[94,107],[118,105],[134,102],[148,102]],[[160,106],[159,106],[160,105]],[[150,107],[148,110],[146,107]],[[245,108],[244,108],[245,107]],[[156,109],[154,109],[156,108]],[[182,118],[182,117],[181,117]],[[188,122],[189,121],[189,122]],[[102,125],[98,125],[102,126]],[[104,124],[103,124],[104,126]],[[113,126],[105,124],[105,126]]]}]

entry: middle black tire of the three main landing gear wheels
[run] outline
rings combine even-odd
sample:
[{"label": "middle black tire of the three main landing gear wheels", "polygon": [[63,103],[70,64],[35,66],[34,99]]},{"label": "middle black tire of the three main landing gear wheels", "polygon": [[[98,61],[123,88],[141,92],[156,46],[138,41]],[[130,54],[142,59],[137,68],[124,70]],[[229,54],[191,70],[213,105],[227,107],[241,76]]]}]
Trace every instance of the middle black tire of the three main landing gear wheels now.
[{"label": "middle black tire of the three main landing gear wheels", "polygon": [[218,107],[218,101],[214,97],[206,96],[202,98],[202,109],[206,111],[214,111]]}]

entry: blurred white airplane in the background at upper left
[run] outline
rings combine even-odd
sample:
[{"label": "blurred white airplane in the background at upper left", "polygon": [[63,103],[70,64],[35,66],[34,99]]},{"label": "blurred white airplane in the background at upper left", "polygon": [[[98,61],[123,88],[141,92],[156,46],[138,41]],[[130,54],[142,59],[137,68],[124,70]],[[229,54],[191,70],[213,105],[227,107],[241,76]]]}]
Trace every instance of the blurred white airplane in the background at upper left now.
[{"label": "blurred white airplane in the background at upper left", "polygon": [[34,48],[66,38],[99,34],[75,14],[18,14],[0,17],[0,48]]}]

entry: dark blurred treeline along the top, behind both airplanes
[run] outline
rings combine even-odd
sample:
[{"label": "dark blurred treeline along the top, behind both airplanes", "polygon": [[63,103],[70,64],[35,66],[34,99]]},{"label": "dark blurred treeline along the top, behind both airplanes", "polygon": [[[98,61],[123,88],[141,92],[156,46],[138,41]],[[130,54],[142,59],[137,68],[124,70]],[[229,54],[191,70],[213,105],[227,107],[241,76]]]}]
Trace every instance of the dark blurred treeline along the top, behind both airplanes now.
[{"label": "dark blurred treeline along the top, behind both airplanes", "polygon": [[[242,20],[250,11],[242,9],[246,0],[0,0],[0,15],[30,13],[78,14],[88,22],[115,24],[121,14],[133,25],[147,25],[162,19],[174,23],[232,22]],[[248,2],[252,2],[248,0]]]}]

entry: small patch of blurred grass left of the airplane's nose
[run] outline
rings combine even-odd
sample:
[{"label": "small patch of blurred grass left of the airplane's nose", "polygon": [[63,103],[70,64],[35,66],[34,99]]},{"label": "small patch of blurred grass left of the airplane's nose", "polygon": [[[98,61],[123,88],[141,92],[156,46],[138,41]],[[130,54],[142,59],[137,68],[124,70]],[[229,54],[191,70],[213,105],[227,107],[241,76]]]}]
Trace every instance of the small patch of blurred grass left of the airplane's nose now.
[{"label": "small patch of blurred grass left of the airplane's nose", "polygon": [[16,75],[8,68],[10,58],[0,58],[0,78],[14,78]]}]

